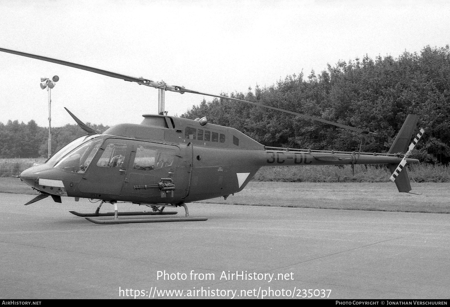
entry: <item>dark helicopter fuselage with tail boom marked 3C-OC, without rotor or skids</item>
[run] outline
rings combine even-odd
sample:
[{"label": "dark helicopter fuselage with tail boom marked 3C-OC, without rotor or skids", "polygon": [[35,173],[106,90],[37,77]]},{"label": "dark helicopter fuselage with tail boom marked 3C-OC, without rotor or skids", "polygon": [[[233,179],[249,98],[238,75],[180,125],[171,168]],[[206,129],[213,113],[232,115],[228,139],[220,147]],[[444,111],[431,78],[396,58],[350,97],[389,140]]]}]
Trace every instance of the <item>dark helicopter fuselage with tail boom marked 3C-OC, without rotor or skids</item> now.
[{"label": "dark helicopter fuselage with tail boom marked 3C-OC, without rotor or skids", "polygon": [[398,164],[402,158],[268,150],[233,128],[162,115],[144,115],[139,125],[119,124],[78,142],[23,171],[21,179],[60,196],[180,204],[239,192],[262,166]]}]

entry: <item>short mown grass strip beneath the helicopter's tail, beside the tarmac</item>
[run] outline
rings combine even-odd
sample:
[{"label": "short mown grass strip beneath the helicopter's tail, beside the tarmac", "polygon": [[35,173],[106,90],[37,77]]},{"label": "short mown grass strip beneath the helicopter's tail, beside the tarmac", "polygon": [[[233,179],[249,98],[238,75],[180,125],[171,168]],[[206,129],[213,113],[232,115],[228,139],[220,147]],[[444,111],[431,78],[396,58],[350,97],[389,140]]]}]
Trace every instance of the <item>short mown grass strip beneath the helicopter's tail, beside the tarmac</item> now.
[{"label": "short mown grass strip beneath the helicopter's tail, beside the tarmac", "polygon": [[392,183],[250,182],[226,200],[220,197],[200,203],[450,213],[449,184],[416,183],[411,192],[422,195],[398,193]]}]

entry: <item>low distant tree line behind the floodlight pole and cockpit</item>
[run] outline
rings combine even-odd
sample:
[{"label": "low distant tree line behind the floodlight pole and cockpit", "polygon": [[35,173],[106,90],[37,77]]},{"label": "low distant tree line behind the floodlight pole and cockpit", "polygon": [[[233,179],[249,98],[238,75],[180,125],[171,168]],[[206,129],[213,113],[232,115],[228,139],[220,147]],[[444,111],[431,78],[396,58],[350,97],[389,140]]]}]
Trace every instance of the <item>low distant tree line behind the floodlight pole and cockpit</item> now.
[{"label": "low distant tree line behind the floodlight pole and cockpit", "polygon": [[[100,131],[109,127],[86,123]],[[61,149],[72,140],[86,134],[78,125],[67,124],[52,127],[52,153]],[[27,124],[18,120],[0,123],[0,158],[39,158],[48,155],[48,127],[39,127],[34,120]]]}]

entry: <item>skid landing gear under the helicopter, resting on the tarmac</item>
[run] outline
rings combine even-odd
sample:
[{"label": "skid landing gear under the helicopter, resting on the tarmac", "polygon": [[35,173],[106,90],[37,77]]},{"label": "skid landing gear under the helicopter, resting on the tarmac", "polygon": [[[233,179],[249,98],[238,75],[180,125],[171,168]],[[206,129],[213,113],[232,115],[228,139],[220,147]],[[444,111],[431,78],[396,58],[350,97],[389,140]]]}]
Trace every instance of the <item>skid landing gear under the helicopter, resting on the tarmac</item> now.
[{"label": "skid landing gear under the helicopter, resting on the tarmac", "polygon": [[[100,205],[97,207],[97,210],[94,213],[79,213],[76,211],[69,211],[70,213],[85,217],[88,221],[95,223],[95,224],[129,224],[129,223],[162,223],[162,222],[191,222],[191,221],[206,221],[208,218],[193,218],[189,217],[189,211],[186,204],[182,203],[180,205],[157,205],[157,206],[151,206],[153,209],[153,212],[117,212],[117,204],[116,202],[110,202],[114,205],[114,212],[108,212],[108,213],[99,213],[100,207],[103,205],[104,201],[100,203]],[[142,219],[119,219],[119,215],[172,215],[177,214],[176,211],[164,211],[165,207],[178,207],[183,206],[185,211],[185,217],[174,217],[174,218],[142,218]],[[112,216],[114,215],[114,219],[92,219],[91,216]]]}]

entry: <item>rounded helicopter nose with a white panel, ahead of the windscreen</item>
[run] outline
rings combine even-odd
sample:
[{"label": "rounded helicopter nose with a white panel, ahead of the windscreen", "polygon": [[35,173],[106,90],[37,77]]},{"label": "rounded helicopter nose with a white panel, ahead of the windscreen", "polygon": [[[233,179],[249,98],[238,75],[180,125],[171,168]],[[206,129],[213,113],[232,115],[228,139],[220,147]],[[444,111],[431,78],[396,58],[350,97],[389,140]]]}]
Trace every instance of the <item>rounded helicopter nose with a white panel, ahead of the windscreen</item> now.
[{"label": "rounded helicopter nose with a white panel, ahead of the windscreen", "polygon": [[46,164],[30,167],[20,173],[20,179],[33,189],[49,194],[67,196],[63,181],[57,180],[58,177],[58,170]]}]

